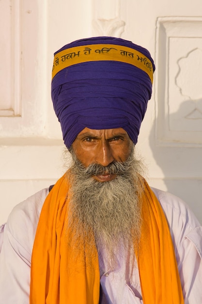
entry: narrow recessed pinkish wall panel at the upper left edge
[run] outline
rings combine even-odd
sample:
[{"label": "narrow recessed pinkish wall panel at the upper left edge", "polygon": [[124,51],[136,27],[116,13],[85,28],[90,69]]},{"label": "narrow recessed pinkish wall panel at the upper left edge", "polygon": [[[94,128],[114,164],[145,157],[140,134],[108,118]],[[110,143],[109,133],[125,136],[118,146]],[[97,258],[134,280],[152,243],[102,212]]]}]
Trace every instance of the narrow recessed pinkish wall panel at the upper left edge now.
[{"label": "narrow recessed pinkish wall panel at the upper left edge", "polygon": [[0,116],[21,116],[21,0],[0,1]]}]

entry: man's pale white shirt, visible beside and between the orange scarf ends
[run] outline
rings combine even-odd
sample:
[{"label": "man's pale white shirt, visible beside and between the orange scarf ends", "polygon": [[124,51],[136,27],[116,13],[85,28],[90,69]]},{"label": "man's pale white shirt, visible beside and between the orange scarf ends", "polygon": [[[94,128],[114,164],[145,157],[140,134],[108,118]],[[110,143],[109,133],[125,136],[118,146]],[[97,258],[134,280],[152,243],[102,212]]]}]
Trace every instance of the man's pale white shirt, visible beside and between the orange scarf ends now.
[{"label": "man's pale white shirt, visible beside and between the orange scarf ends", "polygon": [[[185,304],[202,304],[202,226],[179,198],[153,188],[167,217],[183,287]],[[16,205],[0,226],[0,304],[29,304],[31,252],[42,205],[43,189]],[[99,258],[100,282],[108,304],[142,304],[136,261],[120,255],[115,270]]]}]

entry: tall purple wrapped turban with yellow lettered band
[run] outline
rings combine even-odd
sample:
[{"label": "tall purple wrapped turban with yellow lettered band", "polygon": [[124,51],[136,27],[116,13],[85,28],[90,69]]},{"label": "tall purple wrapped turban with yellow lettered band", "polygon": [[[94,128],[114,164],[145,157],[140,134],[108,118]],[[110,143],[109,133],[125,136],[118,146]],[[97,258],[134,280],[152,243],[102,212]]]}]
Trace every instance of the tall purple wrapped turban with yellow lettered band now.
[{"label": "tall purple wrapped turban with yellow lettered band", "polygon": [[51,95],[66,147],[85,127],[123,128],[136,144],[152,94],[149,51],[121,38],[93,37],[54,55]]}]

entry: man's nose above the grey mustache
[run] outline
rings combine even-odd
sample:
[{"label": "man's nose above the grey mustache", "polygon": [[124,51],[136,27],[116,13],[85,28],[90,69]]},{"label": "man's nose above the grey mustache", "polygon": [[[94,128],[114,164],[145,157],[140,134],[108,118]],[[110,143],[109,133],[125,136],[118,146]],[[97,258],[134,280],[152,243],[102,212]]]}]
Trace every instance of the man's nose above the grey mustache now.
[{"label": "man's nose above the grey mustache", "polygon": [[108,142],[101,142],[96,151],[95,162],[104,167],[108,166],[114,161],[114,157],[111,151],[111,147]]}]

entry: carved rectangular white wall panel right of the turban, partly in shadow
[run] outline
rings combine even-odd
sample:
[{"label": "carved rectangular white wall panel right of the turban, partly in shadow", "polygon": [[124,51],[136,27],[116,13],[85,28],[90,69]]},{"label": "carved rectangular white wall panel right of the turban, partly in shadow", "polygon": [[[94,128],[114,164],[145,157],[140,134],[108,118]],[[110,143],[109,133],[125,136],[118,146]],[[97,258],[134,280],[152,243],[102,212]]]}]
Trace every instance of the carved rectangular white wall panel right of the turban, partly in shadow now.
[{"label": "carved rectangular white wall panel right of the turban, partly in shadow", "polygon": [[159,17],[156,32],[156,141],[202,146],[202,17]]}]

